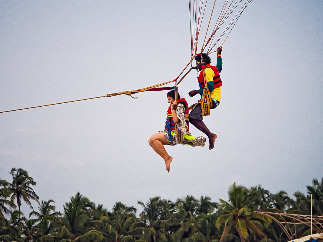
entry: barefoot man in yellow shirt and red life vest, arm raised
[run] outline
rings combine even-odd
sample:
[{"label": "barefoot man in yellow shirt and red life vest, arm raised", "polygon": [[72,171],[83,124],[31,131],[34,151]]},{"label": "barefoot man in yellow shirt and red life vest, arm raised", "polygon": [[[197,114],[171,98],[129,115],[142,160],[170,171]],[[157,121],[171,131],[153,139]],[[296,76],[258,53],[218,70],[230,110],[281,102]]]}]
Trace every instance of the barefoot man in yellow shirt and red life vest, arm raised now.
[{"label": "barefoot man in yellow shirt and red life vest, arm raised", "polygon": [[[203,94],[203,88],[205,86],[204,83],[204,78],[207,82],[207,87],[209,88],[210,91],[210,96],[212,98],[212,107],[210,109],[214,109],[220,104],[220,99],[221,99],[221,86],[222,86],[222,81],[220,79],[219,73],[222,71],[222,58],[221,58],[221,51],[222,47],[220,46],[217,49],[217,62],[216,66],[211,66],[211,58],[206,54],[202,53],[203,57],[203,62],[201,61],[201,54],[195,56],[196,60],[196,66],[199,69],[200,76],[198,77],[198,82],[200,85],[199,90],[193,90],[188,93],[191,97],[195,96],[196,94],[200,94],[202,97]],[[205,65],[205,77],[203,76],[202,72],[202,64]],[[217,138],[217,135],[212,133],[204,124],[203,117],[201,116],[202,113],[202,107],[201,105],[196,105],[191,113],[189,114],[189,121],[190,123],[195,126],[197,129],[201,130],[204,134],[207,135],[209,138],[209,150],[214,148],[214,142],[215,139]]]}]

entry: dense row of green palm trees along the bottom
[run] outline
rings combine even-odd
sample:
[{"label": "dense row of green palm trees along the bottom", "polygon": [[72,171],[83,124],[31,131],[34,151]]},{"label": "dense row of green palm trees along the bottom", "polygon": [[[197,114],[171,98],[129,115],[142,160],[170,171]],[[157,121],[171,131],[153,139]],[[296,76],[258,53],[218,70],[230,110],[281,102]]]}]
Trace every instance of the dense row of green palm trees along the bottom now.
[{"label": "dense row of green palm trees along the bottom", "polygon": [[[313,179],[307,195],[295,192],[295,199],[285,191],[272,194],[260,185],[246,188],[234,183],[228,189],[229,201],[216,203],[210,197],[189,195],[175,202],[152,197],[145,203],[138,201],[142,211],[137,216],[133,206],[116,202],[109,211],[79,192],[65,203],[63,213],[57,212],[53,200],[39,202],[32,188],[36,182],[27,171],[12,168],[9,173],[11,183],[0,177],[1,242],[283,242],[289,240],[283,229],[257,211],[310,215],[310,194],[313,215],[323,211],[323,177]],[[20,207],[31,205],[31,200],[39,207],[31,207],[25,216]],[[310,228],[302,224],[291,228],[295,237],[310,234]]]}]

